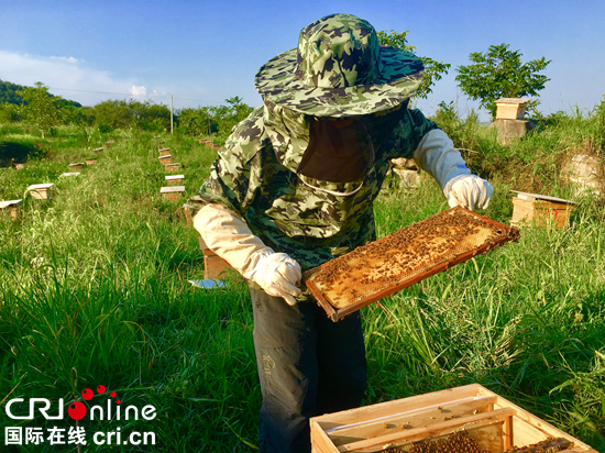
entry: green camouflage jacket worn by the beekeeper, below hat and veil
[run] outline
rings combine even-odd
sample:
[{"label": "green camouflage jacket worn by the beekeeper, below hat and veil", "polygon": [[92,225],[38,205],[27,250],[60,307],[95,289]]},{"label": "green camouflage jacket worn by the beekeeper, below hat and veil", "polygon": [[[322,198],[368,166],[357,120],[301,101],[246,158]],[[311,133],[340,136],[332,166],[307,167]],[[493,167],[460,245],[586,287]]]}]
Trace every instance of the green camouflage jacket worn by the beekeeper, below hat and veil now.
[{"label": "green camouflage jacket worn by the beekeeper, below hat and veil", "polygon": [[207,203],[239,213],[254,234],[276,252],[296,259],[302,270],[375,240],[373,201],[389,168],[389,159],[413,156],[436,124],[419,110],[406,109],[395,130],[374,141],[375,165],[359,181],[333,184],[296,173],[308,145],[304,114],[268,103],[238,124],[210,169],[198,195],[188,200],[194,216]]}]

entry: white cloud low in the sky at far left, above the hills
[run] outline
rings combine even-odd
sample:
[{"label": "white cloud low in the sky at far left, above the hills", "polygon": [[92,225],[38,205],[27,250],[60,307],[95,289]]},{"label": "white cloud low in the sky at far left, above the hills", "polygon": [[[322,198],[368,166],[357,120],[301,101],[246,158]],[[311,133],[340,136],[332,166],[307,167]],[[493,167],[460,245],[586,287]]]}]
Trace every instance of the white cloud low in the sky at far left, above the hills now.
[{"label": "white cloud low in the sky at far left, above the hills", "polygon": [[[134,78],[121,80],[107,70],[90,68],[84,59],[75,57],[43,57],[0,49],[0,79],[25,86],[42,81],[53,95],[85,106],[106,99],[147,96],[147,89],[136,86]],[[163,100],[154,99],[156,102]]]}]

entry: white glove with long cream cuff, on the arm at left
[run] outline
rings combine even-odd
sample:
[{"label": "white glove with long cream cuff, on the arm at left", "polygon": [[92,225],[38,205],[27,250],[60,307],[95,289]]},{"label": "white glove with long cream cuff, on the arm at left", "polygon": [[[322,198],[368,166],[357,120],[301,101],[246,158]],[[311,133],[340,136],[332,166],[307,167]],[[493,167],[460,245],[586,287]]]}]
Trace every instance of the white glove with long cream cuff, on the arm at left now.
[{"label": "white glove with long cream cuff, on the arm at left", "polygon": [[267,295],[296,305],[296,297],[301,294],[297,288],[302,277],[300,265],[287,254],[267,247],[233,211],[207,205],[194,218],[194,226],[208,248],[244,278],[255,281]]}]

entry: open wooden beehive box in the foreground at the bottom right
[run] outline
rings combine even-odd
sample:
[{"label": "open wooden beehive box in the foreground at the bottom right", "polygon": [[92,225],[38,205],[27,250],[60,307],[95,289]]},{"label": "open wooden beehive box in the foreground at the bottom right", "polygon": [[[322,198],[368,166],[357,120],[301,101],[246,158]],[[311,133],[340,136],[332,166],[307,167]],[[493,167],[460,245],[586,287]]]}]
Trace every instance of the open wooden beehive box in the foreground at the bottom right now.
[{"label": "open wooden beehive box in the foreground at the bottom right", "polygon": [[376,453],[389,449],[405,452],[415,442],[435,441],[461,431],[492,453],[549,438],[568,445],[559,450],[564,453],[597,453],[479,384],[315,417],[310,428],[312,453]]}]

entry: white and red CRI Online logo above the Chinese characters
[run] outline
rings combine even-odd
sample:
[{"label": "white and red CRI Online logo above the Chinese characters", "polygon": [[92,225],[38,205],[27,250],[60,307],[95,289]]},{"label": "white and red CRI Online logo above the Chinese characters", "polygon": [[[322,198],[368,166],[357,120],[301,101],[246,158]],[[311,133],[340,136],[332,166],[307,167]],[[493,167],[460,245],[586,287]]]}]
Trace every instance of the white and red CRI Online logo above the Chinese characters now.
[{"label": "white and red CRI Online logo above the Chinese characters", "polygon": [[[107,388],[103,385],[97,386],[97,395],[103,395],[107,391]],[[95,396],[95,393],[90,388],[85,388],[81,391],[81,397],[86,401],[90,401],[92,397]],[[121,420],[122,418],[122,411],[120,407],[120,400],[114,399],[117,397],[116,391],[111,391],[109,394],[111,397],[107,401],[107,406],[102,407],[99,405],[92,406],[90,408],[90,420]],[[51,408],[51,401],[46,398],[30,398],[30,412],[26,416],[15,416],[12,413],[12,406],[19,402],[23,402],[23,398],[13,398],[9,402],[7,402],[7,416],[9,416],[13,420],[33,420],[34,412],[36,409],[36,405],[42,404],[44,406],[38,406],[37,410],[40,413],[44,416],[46,420],[62,420],[64,417],[64,404],[63,398],[59,398],[58,400],[58,413],[57,416],[51,416],[48,415],[48,409]],[[112,402],[116,402],[116,407],[113,407]],[[113,417],[112,417],[113,412]],[[136,406],[128,406],[124,411],[125,420],[134,419],[139,420],[139,408]],[[69,417],[72,417],[74,420],[81,420],[86,417],[88,413],[88,408],[86,405],[81,401],[74,401],[69,405],[67,408],[67,413]],[[155,407],[153,406],[144,406],[141,410],[141,416],[145,420],[153,420],[156,416],[155,413]]]}]

